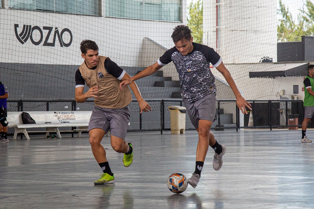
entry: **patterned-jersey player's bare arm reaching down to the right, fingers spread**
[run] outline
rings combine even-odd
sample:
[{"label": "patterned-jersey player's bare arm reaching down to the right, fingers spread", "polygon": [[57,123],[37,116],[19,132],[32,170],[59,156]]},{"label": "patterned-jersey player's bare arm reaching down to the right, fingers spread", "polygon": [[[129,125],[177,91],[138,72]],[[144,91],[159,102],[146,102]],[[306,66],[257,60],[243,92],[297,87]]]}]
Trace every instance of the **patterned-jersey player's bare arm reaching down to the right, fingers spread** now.
[{"label": "patterned-jersey player's bare arm reaching down to the right, fingers spread", "polygon": [[234,80],[229,72],[229,70],[225,67],[225,65],[223,64],[223,62],[220,63],[220,65],[218,65],[216,67],[216,69],[223,75],[223,77],[226,79],[227,83],[230,85],[235,98],[237,99],[236,103],[237,106],[239,107],[239,109],[241,110],[241,112],[244,114],[247,114],[246,108],[248,107],[250,110],[252,110],[251,108],[251,104],[248,103],[240,94],[240,91],[238,89],[238,87],[236,86],[236,84],[234,83]]}]

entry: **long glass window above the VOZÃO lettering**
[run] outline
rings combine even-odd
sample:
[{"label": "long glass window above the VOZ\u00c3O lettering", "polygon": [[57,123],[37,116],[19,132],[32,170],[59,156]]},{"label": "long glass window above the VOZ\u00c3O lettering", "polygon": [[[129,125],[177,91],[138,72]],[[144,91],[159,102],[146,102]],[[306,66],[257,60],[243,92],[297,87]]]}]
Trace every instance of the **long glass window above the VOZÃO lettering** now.
[{"label": "long glass window above the VOZ\u00c3O lettering", "polygon": [[8,0],[8,2],[9,8],[16,9],[100,15],[101,0]]}]

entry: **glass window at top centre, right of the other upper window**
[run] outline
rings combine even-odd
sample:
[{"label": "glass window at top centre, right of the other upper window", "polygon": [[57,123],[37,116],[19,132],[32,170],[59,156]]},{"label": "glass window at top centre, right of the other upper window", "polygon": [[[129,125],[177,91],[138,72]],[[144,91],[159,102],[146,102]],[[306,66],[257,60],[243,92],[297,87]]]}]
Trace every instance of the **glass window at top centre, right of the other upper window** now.
[{"label": "glass window at top centre, right of the other upper window", "polygon": [[105,15],[181,21],[181,0],[105,0]]}]

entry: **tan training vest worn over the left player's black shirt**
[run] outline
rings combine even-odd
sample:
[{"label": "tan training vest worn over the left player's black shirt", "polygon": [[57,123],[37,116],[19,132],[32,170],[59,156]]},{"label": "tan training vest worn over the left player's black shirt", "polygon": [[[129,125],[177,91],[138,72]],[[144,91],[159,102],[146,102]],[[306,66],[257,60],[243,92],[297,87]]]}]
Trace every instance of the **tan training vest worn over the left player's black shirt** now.
[{"label": "tan training vest worn over the left player's black shirt", "polygon": [[119,88],[120,81],[113,75],[107,73],[104,62],[106,56],[99,56],[98,65],[95,70],[89,69],[85,62],[79,67],[80,73],[86,85],[91,88],[98,86],[97,97],[94,103],[98,107],[119,109],[130,104],[132,96],[128,85]]}]

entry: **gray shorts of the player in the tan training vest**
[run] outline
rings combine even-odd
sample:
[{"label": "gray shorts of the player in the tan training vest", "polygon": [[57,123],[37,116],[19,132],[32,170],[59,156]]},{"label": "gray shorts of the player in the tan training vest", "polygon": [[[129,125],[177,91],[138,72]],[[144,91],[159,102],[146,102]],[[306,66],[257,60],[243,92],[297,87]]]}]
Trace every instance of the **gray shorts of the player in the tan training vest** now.
[{"label": "gray shorts of the player in the tan training vest", "polygon": [[93,128],[101,128],[107,133],[110,129],[111,135],[125,139],[126,131],[129,127],[129,120],[129,107],[122,110],[113,110],[94,106],[88,124],[88,131]]}]

